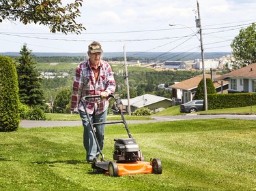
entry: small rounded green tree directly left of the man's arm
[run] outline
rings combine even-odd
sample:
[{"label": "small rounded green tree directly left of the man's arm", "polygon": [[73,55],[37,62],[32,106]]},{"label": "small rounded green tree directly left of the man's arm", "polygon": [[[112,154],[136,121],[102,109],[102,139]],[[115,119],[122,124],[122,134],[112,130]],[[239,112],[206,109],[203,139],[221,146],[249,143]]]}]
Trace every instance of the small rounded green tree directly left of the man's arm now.
[{"label": "small rounded green tree directly left of the man's arm", "polygon": [[71,94],[72,91],[70,88],[64,88],[63,90],[60,90],[55,97],[55,101],[53,103],[53,111],[61,114],[70,113],[71,104],[69,103],[71,101]]}]

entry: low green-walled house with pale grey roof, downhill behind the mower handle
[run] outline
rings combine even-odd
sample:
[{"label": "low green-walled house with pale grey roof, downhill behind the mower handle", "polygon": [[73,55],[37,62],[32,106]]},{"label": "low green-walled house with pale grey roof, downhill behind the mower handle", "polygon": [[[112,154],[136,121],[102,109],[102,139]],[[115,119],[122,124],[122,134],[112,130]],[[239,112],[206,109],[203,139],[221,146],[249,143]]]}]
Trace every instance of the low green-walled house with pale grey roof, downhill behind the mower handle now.
[{"label": "low green-walled house with pale grey roof, downhill behind the mower handle", "polygon": [[[128,114],[128,99],[121,99],[119,106],[122,109],[124,114]],[[167,99],[165,97],[159,97],[152,94],[143,94],[142,96],[134,97],[130,99],[131,113],[141,107],[147,107],[152,112],[156,113],[162,108],[166,109],[171,106],[172,106],[171,99]],[[113,111],[114,110],[115,109],[113,109]]]}]

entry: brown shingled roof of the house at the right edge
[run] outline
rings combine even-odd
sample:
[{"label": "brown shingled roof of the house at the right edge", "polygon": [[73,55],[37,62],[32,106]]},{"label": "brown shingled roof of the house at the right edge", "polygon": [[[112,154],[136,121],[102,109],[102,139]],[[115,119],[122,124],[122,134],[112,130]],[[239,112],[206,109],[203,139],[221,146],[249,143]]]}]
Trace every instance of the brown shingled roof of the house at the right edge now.
[{"label": "brown shingled roof of the house at the right edge", "polygon": [[242,67],[235,71],[226,73],[220,77],[216,77],[216,80],[225,80],[229,77],[242,77],[242,78],[256,78],[256,63]]}]

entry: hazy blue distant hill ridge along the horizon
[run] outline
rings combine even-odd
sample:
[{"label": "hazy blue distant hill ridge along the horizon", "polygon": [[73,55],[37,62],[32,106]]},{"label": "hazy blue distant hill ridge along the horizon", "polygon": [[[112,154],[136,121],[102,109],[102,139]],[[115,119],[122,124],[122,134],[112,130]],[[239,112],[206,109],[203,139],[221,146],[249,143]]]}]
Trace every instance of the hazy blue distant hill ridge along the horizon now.
[{"label": "hazy blue distant hill ridge along the horizon", "polygon": [[[87,52],[32,52],[35,56],[87,56]],[[205,52],[205,59],[221,58],[231,52]],[[19,52],[0,52],[5,56],[20,56]],[[150,60],[194,60],[201,58],[201,52],[126,52],[127,57]],[[104,58],[124,57],[124,52],[104,52]]]}]

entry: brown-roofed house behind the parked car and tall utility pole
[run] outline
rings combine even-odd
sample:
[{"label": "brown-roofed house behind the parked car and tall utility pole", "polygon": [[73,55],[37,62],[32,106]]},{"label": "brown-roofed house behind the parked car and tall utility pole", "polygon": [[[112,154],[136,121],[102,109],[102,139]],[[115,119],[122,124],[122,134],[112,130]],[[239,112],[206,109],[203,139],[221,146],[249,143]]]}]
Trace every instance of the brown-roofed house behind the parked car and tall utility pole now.
[{"label": "brown-roofed house behind the parked car and tall utility pole", "polygon": [[[215,75],[215,70],[211,71],[211,74],[205,74],[205,78],[210,78],[213,80],[216,92],[222,93],[224,90],[227,90],[229,82],[225,80],[222,82],[214,80],[215,77],[221,77],[221,75]],[[202,79],[203,75],[201,74],[169,86],[172,89],[173,100],[180,99],[182,103],[187,103],[188,101],[193,100],[195,92],[197,92],[197,86]]]}]

